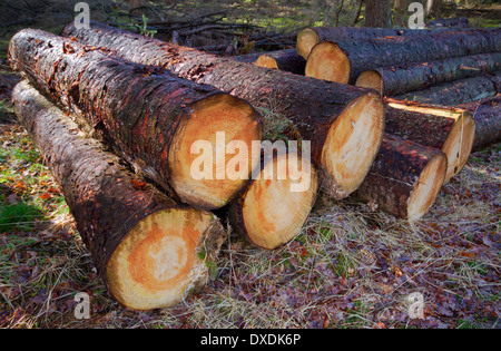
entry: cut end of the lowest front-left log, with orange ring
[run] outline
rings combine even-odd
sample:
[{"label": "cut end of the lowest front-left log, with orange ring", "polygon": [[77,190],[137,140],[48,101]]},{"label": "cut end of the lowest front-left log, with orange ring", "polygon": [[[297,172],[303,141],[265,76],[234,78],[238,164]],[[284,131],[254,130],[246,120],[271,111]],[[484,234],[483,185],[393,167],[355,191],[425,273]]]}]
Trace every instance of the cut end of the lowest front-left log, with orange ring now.
[{"label": "cut end of the lowest front-left log, with orange ring", "polygon": [[223,237],[222,233],[210,213],[193,208],[149,215],[129,232],[108,262],[111,294],[132,310],[171,306],[206,282],[207,238]]}]

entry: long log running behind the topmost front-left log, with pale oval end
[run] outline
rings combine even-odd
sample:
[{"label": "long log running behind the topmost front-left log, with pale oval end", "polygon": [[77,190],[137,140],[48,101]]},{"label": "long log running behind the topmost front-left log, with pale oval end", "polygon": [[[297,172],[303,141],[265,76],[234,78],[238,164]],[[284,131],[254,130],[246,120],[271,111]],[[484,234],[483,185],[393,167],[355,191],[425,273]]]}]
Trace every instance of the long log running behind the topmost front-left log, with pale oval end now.
[{"label": "long log running behind the topmost front-left log, with pale oval end", "polygon": [[303,139],[312,142],[312,163],[328,176],[337,198],[360,186],[377,154],[384,107],[374,90],[236,62],[96,22],[90,30],[71,22],[62,33],[112,49],[130,61],[167,67],[285,116]]}]

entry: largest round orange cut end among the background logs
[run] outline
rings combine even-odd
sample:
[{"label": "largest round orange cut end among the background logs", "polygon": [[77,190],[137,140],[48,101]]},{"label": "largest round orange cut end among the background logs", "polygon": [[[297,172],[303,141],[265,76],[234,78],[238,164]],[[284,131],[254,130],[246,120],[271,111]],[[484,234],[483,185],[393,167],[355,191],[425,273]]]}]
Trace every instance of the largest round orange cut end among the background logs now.
[{"label": "largest round orange cut end among the background logs", "polygon": [[336,43],[323,41],[312,49],[305,68],[307,77],[348,84],[350,74],[350,59]]}]

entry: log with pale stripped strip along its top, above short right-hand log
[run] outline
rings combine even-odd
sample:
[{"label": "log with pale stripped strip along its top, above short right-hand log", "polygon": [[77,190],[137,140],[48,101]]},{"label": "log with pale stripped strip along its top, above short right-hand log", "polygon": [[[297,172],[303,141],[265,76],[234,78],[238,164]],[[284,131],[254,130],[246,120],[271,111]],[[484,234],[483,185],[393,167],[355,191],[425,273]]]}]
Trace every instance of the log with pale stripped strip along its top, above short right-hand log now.
[{"label": "log with pale stripped strip along its top, above short right-hand log", "polygon": [[386,129],[392,136],[442,150],[448,156],[445,183],[470,157],[475,121],[464,109],[385,99]]}]

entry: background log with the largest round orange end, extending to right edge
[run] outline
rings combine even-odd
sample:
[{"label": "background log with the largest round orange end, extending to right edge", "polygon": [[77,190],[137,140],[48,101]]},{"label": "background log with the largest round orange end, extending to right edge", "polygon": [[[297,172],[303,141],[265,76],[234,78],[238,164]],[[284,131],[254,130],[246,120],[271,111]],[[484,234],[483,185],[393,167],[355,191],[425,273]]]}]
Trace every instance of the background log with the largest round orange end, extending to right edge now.
[{"label": "background log with the largest round orange end, extending to right edge", "polygon": [[354,84],[365,70],[501,51],[501,29],[446,31],[363,41],[323,41],[308,56],[305,75]]}]

